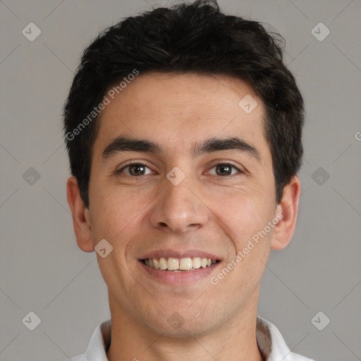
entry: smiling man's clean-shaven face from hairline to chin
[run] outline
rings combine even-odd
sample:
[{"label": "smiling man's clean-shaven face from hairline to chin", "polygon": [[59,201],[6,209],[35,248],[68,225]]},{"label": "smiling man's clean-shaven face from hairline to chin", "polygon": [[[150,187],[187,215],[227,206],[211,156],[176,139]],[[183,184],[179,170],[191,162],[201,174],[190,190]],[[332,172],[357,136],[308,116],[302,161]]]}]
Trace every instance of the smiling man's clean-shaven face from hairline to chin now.
[{"label": "smiling man's clean-shaven face from hairline to chin", "polygon": [[[258,104],[250,114],[238,105],[246,95]],[[231,325],[257,308],[273,230],[243,250],[278,213],[263,116],[245,82],[159,73],[140,74],[102,111],[87,217],[94,245],[106,239],[114,247],[97,256],[111,311],[181,336]],[[109,147],[119,137],[147,140],[159,152]],[[240,143],[202,148],[212,138]],[[183,258],[195,267],[202,258],[219,262],[190,271],[145,264],[160,257],[185,267]],[[232,269],[217,276],[232,259]]]}]

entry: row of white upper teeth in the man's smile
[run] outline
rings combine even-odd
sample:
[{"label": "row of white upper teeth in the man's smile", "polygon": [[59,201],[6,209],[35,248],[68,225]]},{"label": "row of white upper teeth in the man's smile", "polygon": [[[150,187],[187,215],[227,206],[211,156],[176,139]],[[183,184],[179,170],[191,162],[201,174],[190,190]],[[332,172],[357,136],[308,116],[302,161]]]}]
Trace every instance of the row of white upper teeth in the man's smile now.
[{"label": "row of white upper teeth in the man's smile", "polygon": [[165,257],[148,258],[145,259],[145,264],[155,269],[169,270],[169,271],[190,271],[191,269],[205,268],[216,263],[216,259],[201,258],[201,257],[186,257],[186,258],[173,258]]}]

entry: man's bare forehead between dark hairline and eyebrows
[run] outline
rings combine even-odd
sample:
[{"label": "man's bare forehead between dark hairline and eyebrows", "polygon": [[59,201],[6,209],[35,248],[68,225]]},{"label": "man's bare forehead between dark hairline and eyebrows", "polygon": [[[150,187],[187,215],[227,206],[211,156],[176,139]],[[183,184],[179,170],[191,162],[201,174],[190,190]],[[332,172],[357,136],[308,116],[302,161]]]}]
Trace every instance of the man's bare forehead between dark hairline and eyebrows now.
[{"label": "man's bare forehead between dark hairline and eyebrows", "polygon": [[109,100],[98,119],[94,148],[100,152],[119,135],[152,139],[169,152],[185,152],[206,137],[240,136],[264,145],[262,102],[242,80],[145,73]]}]

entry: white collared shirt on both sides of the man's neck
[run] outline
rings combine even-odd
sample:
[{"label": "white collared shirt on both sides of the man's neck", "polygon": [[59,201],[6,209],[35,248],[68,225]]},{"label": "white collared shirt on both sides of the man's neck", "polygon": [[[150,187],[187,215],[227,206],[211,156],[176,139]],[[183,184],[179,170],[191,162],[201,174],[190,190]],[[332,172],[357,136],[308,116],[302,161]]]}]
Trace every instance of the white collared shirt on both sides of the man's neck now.
[{"label": "white collared shirt on both sides of the man's neck", "polygon": [[[291,353],[281,332],[271,322],[257,317],[257,343],[267,361],[313,361],[305,356]],[[72,357],[73,361],[109,361],[106,350],[111,341],[111,319],[101,322],[92,334],[84,355]]]}]

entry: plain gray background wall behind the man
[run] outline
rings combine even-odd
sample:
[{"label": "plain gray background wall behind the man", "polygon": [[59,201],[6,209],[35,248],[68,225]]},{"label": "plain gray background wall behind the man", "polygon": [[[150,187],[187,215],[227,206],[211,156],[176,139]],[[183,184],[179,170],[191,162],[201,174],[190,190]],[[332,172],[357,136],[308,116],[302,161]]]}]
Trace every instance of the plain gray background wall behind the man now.
[{"label": "plain gray background wall behind the man", "polygon": [[[1,360],[78,355],[109,317],[96,254],[75,243],[61,107],[82,49],[100,30],[149,5],[156,3],[0,1]],[[296,353],[361,360],[361,1],[219,5],[286,37],[286,61],[306,102],[298,226],[286,250],[271,252],[259,314]],[[33,42],[22,34],[30,22],[42,31]],[[319,22],[331,31],[322,42],[311,32]],[[25,173],[30,167],[38,180],[30,179],[33,170]],[[34,331],[22,323],[30,311],[41,319]],[[331,319],[323,331],[311,322],[319,311]],[[317,319],[318,326],[325,320]]]}]

